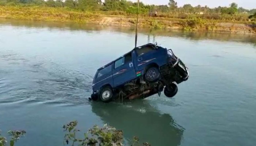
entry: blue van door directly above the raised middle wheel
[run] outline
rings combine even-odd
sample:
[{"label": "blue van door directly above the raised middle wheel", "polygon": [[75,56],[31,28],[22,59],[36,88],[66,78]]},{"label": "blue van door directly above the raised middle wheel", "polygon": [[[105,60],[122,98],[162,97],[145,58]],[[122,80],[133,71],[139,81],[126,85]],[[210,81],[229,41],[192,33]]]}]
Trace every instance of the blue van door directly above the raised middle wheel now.
[{"label": "blue van door directly above the raised middle wheel", "polygon": [[138,70],[143,70],[147,64],[156,61],[159,57],[158,51],[154,48],[154,46],[144,46],[142,48],[137,48],[136,54],[136,64]]}]

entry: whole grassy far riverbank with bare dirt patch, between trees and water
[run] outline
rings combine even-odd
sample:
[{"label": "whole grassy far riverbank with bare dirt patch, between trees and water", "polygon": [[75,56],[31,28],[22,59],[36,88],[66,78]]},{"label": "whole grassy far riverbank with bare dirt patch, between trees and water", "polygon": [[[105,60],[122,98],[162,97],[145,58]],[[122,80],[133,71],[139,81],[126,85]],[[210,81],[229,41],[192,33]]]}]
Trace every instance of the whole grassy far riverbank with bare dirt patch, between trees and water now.
[{"label": "whole grassy far riverbank with bare dirt patch, between trees and water", "polygon": [[[15,6],[0,7],[0,18],[135,27],[135,15],[120,15],[118,13],[115,15],[113,14],[115,13],[111,14],[106,12],[82,12],[69,8]],[[256,25],[253,22],[213,20],[202,19],[198,17],[189,19],[175,19],[140,16],[138,26],[145,28],[165,28],[184,31],[211,31],[256,34]]]}]

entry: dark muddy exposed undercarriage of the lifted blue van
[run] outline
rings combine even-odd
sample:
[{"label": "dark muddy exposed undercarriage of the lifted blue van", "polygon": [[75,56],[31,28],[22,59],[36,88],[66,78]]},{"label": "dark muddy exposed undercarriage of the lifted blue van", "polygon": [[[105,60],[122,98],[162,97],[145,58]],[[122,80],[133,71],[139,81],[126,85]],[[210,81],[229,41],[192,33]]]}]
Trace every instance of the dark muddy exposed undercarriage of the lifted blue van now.
[{"label": "dark muddy exposed undercarriage of the lifted blue van", "polygon": [[144,80],[144,77],[140,77],[136,80],[130,81],[116,89],[115,99],[144,99],[154,94],[158,94],[160,96],[165,87],[172,87],[174,82],[180,84],[184,81],[185,75],[179,71],[179,66],[173,66],[171,63],[161,66],[159,69],[159,80],[155,82],[147,82]]}]

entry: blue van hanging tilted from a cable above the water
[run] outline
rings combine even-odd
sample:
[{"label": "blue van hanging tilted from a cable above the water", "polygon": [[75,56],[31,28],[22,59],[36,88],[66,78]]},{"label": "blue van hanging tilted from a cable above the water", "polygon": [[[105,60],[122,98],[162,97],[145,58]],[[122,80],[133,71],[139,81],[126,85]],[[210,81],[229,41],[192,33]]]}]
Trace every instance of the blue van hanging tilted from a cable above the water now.
[{"label": "blue van hanging tilted from a cable above the water", "polygon": [[188,68],[172,49],[147,43],[99,68],[93,78],[91,99],[143,99],[160,96],[162,91],[166,97],[174,97],[178,92],[176,84],[188,77]]}]

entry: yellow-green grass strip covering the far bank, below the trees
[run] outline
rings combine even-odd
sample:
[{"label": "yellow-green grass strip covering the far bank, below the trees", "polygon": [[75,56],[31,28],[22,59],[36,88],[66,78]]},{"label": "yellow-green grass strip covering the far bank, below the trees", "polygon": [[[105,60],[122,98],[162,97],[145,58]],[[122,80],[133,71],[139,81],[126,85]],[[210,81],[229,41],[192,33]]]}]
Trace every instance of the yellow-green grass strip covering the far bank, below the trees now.
[{"label": "yellow-green grass strip covering the far bank, below the trees", "polygon": [[[134,26],[136,15],[123,11],[82,11],[68,7],[53,8],[46,6],[0,6],[0,17],[26,20],[45,20],[58,22],[75,23],[101,23],[120,24]],[[107,17],[107,19],[105,19]],[[110,17],[113,17],[111,19]],[[234,31],[236,28],[229,26],[218,26],[220,23],[243,23],[249,22],[246,14],[239,15],[219,15],[219,14],[178,14],[161,13],[158,17],[150,17],[145,13],[140,14],[139,27],[151,28],[180,28],[185,31]],[[110,19],[109,19],[110,18]],[[106,20],[106,22],[105,22]],[[233,25],[231,25],[233,26]],[[239,29],[239,28],[238,28]],[[247,28],[246,28],[247,29]],[[251,28],[248,28],[251,29]],[[255,32],[255,29],[252,29]]]}]

